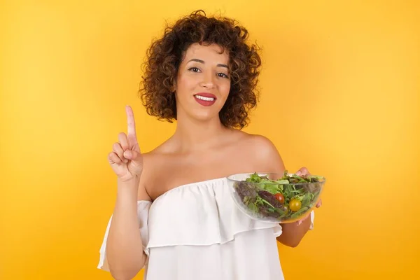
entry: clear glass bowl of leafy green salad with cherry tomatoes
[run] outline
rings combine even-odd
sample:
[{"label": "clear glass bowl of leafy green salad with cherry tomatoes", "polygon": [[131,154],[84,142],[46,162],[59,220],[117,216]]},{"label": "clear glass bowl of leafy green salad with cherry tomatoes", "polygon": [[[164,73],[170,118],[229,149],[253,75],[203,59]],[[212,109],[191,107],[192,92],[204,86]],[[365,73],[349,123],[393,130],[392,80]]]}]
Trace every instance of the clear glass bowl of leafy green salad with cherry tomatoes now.
[{"label": "clear glass bowl of leafy green salad with cherry tomatoes", "polygon": [[241,202],[260,218],[287,221],[300,218],[314,207],[321,193],[323,176],[297,176],[284,172],[281,179],[272,180],[256,172],[235,184]]}]

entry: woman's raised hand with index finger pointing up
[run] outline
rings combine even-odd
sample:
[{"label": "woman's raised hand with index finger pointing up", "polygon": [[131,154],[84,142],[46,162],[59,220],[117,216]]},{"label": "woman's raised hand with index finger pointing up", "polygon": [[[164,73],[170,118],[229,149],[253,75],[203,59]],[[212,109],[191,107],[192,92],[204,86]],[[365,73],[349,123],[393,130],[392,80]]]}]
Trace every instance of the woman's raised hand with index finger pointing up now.
[{"label": "woman's raised hand with index finger pointing up", "polygon": [[127,113],[127,134],[124,132],[118,134],[119,141],[113,144],[113,151],[108,155],[109,164],[121,181],[139,179],[143,171],[143,156],[137,143],[132,108],[126,106],[125,112]]}]

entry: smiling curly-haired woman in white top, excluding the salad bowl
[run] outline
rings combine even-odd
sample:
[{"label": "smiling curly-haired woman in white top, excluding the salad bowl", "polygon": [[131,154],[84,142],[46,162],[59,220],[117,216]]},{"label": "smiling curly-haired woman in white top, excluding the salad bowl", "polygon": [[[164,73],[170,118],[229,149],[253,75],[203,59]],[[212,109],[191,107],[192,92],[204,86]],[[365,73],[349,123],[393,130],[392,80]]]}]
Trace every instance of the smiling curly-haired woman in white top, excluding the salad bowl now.
[{"label": "smiling curly-haired woman in white top, excluding the salad bowl", "polygon": [[313,216],[255,222],[234,206],[225,179],[285,169],[271,141],[241,131],[260,67],[246,38],[235,21],[197,11],[151,45],[141,97],[150,115],[176,120],[176,132],[141,153],[127,106],[127,134],[109,153],[118,191],[98,265],[115,279],[143,267],[147,280],[283,279],[276,240],[297,246]]}]

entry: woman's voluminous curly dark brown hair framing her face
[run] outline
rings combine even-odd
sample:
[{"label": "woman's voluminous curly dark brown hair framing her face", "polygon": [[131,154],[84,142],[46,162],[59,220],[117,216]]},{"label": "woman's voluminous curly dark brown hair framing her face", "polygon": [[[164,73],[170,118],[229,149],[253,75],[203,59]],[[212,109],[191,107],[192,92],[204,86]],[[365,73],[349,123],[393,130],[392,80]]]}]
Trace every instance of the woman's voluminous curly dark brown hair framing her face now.
[{"label": "woman's voluminous curly dark brown hair framing her face", "polygon": [[141,100],[149,115],[173,123],[176,120],[174,81],[183,55],[193,43],[220,45],[230,56],[230,92],[219,113],[225,127],[248,125],[248,111],[258,102],[256,88],[261,59],[258,45],[248,45],[248,31],[236,20],[207,17],[197,10],[181,18],[151,44],[142,76]]}]

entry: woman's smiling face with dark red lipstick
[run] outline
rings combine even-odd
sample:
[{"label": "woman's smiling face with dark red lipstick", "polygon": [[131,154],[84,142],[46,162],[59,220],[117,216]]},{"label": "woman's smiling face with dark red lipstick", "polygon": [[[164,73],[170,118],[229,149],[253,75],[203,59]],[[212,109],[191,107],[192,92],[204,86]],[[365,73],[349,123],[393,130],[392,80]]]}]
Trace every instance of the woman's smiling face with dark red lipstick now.
[{"label": "woman's smiling face with dark red lipstick", "polygon": [[218,119],[230,91],[229,54],[219,45],[190,45],[176,78],[178,119]]}]

